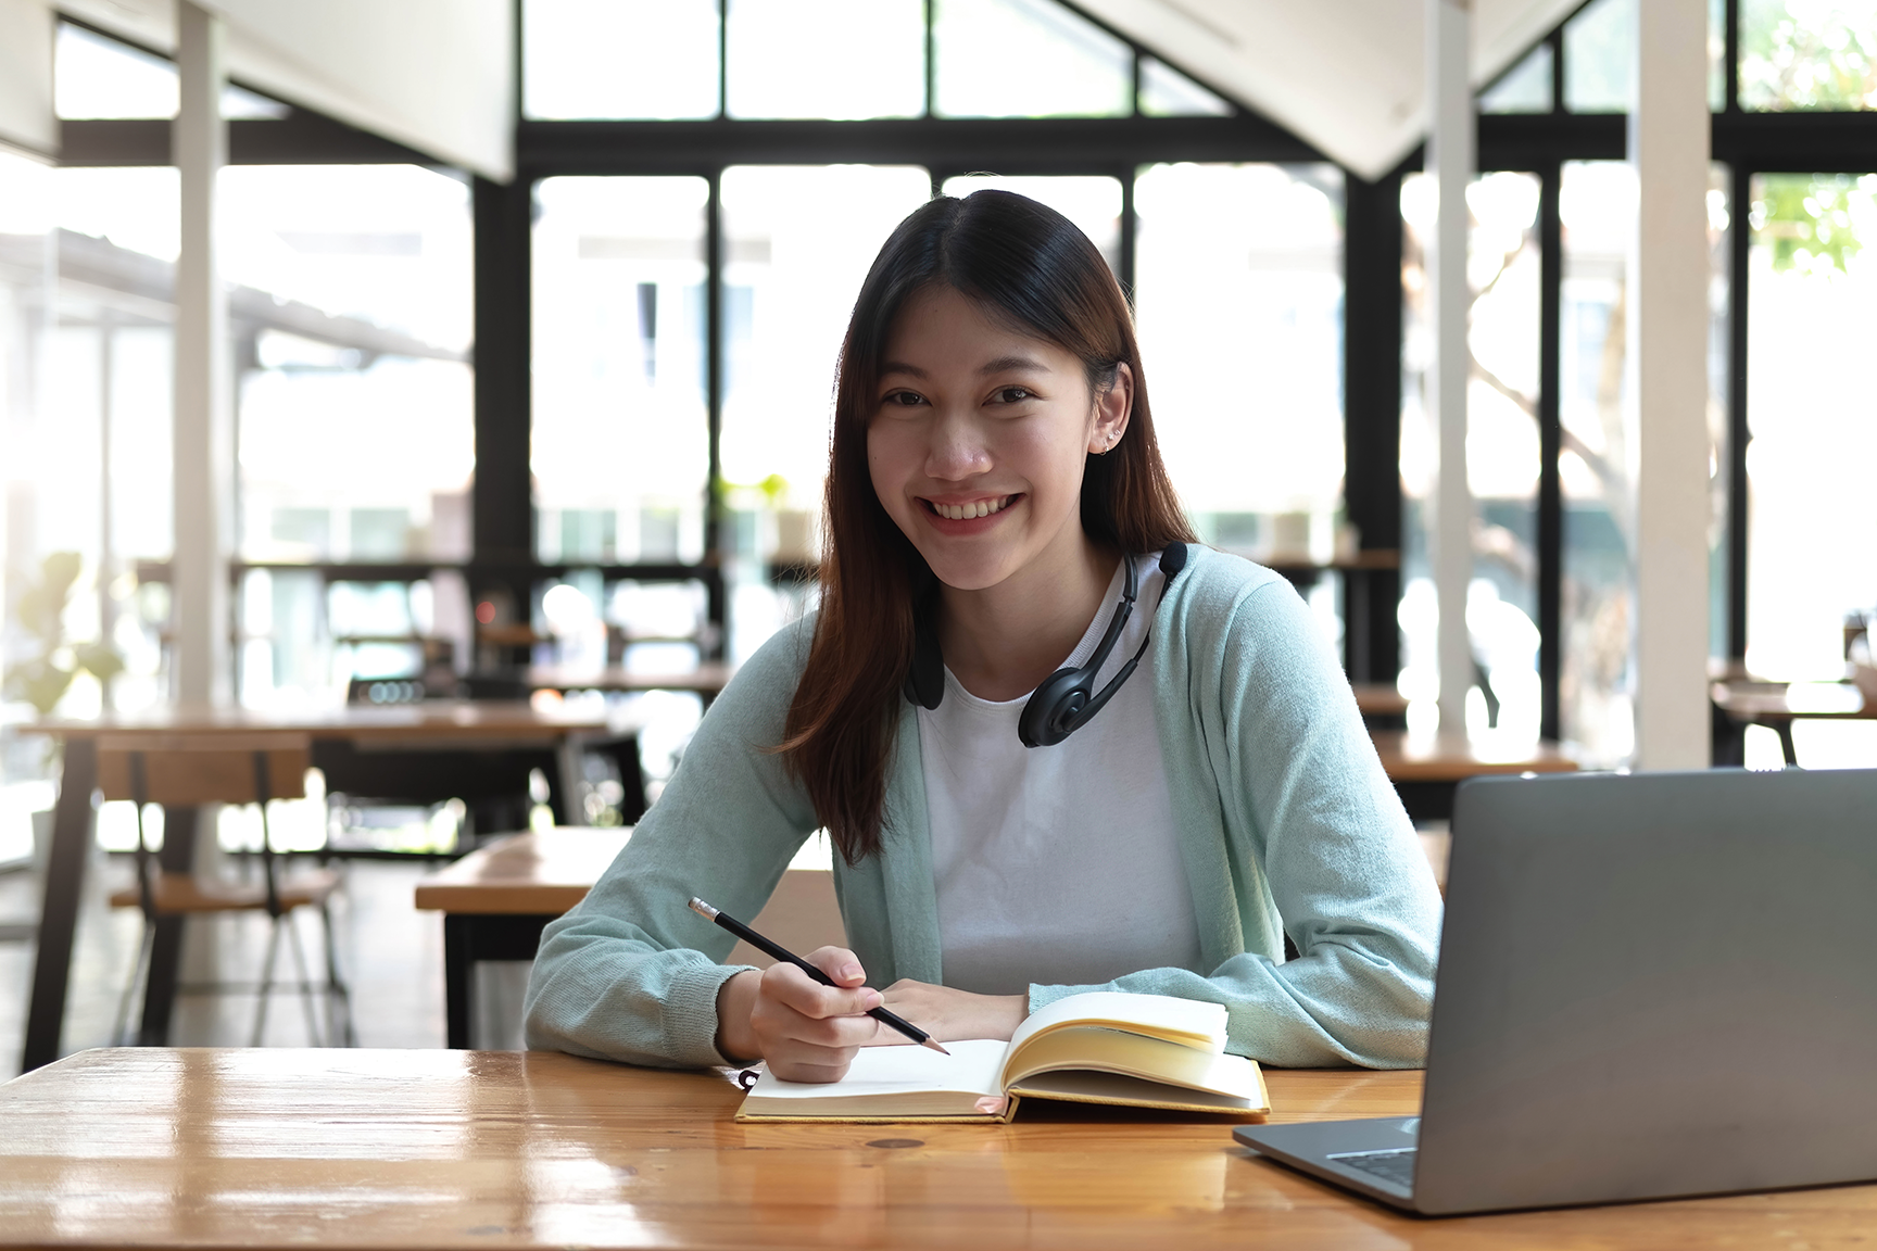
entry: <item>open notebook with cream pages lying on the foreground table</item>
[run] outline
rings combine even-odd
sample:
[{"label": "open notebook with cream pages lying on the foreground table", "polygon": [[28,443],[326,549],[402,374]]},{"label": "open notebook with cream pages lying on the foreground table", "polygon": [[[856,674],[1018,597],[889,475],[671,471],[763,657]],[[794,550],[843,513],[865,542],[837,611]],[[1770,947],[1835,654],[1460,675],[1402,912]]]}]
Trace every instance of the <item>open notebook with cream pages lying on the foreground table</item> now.
[{"label": "open notebook with cream pages lying on the foreground table", "polygon": [[1183,1112],[1269,1112],[1258,1063],[1226,1054],[1226,1009],[1098,990],[1057,1000],[1008,1043],[863,1047],[839,1082],[764,1071],[740,1122],[1008,1122],[1023,1095]]}]

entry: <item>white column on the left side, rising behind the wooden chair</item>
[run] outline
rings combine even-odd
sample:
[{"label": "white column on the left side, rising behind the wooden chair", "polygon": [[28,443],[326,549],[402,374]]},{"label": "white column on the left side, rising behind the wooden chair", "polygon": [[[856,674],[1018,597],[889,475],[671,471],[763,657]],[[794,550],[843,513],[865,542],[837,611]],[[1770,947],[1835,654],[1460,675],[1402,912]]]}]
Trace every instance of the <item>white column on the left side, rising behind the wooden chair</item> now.
[{"label": "white column on the left side, rising behind the wooden chair", "polygon": [[227,163],[221,19],[176,4],[182,101],[173,158],[182,174],[176,257],[176,424],[171,561],[171,696],[223,703],[231,694],[227,518],[233,465],[227,293],[216,266],[216,174]]}]

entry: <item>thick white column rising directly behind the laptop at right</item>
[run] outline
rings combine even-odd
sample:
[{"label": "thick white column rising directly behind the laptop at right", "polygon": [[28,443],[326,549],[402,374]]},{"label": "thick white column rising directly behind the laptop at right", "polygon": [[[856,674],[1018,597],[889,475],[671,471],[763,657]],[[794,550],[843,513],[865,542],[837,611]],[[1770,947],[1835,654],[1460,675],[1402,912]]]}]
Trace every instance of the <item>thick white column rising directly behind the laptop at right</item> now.
[{"label": "thick white column rising directly behind the laptop at right", "polygon": [[[1704,769],[1708,728],[1708,6],[1637,8],[1629,368],[1637,431],[1637,754]],[[1744,212],[1742,204],[1734,212]]]}]

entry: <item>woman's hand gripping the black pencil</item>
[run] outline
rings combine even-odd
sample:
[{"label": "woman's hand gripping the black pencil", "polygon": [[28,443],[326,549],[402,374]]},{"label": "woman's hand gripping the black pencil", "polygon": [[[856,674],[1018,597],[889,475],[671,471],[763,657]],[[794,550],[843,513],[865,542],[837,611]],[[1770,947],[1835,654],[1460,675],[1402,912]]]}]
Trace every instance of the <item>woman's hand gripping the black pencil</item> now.
[{"label": "woman's hand gripping the black pencil", "polygon": [[717,990],[717,1054],[766,1060],[785,1082],[837,1082],[854,1052],[880,1032],[867,1009],[880,992],[867,987],[860,958],[820,947],[809,964],[835,981],[824,987],[794,964],[743,970]]}]

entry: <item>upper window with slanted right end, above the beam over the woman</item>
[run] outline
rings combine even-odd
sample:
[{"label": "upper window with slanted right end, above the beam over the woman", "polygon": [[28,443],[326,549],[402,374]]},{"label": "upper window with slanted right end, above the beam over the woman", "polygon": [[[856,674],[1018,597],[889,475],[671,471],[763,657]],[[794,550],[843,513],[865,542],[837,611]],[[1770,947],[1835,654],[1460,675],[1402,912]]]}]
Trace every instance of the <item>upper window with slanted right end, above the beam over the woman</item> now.
[{"label": "upper window with slanted right end, above the beam over the woman", "polygon": [[541,120],[1222,116],[1057,0],[527,0]]}]

